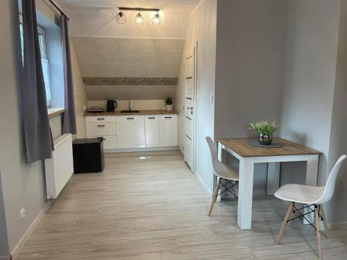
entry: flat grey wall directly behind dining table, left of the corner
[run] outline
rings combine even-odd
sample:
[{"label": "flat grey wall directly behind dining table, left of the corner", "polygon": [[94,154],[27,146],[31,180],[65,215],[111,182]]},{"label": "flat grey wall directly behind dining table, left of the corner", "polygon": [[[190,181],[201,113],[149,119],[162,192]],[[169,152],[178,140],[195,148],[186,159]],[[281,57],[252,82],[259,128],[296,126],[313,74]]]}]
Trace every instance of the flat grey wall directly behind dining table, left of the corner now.
[{"label": "flat grey wall directly behind dining table, left of the corner", "polygon": [[[252,137],[248,123],[280,117],[285,0],[217,6],[214,137]],[[266,171],[266,164],[255,165],[256,193],[265,193]]]}]

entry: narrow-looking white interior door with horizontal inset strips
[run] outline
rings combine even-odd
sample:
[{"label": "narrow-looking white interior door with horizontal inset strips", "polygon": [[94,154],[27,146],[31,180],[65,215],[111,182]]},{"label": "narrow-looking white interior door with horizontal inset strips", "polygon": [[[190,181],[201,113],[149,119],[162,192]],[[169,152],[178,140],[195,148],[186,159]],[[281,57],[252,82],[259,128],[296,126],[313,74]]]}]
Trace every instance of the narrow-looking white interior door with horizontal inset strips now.
[{"label": "narrow-looking white interior door with horizontal inset strips", "polygon": [[185,162],[194,172],[195,48],[185,57]]}]

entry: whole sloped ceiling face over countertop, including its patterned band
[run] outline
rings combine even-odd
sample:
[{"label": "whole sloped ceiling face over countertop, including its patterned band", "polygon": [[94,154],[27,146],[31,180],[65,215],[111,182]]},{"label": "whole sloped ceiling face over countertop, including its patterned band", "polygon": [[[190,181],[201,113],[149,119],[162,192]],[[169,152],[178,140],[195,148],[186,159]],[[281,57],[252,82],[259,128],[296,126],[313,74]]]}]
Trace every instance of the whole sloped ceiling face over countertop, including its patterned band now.
[{"label": "whole sloped ceiling face over countertop, including its patterned band", "polygon": [[89,100],[174,96],[182,39],[72,37]]}]

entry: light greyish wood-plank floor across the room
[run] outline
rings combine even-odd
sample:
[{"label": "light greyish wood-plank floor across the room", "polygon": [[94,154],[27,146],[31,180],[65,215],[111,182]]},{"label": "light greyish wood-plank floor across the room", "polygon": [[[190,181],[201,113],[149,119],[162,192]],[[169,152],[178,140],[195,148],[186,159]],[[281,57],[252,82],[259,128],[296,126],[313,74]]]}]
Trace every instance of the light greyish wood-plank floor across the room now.
[{"label": "light greyish wood-plank floor across the room", "polygon": [[[287,206],[253,201],[253,229],[237,225],[237,202],[211,198],[181,155],[107,155],[101,174],[74,175],[16,260],[317,259],[316,234],[293,223],[274,244]],[[323,259],[347,259],[347,226],[322,237]]]}]

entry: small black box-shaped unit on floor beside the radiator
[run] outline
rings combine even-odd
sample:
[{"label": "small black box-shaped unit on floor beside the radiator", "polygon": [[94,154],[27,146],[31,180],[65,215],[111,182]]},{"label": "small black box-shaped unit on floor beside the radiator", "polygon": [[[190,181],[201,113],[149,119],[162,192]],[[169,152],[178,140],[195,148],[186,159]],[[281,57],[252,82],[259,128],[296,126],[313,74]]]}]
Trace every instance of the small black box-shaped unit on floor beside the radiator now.
[{"label": "small black box-shaped unit on floor beside the radiator", "polygon": [[74,173],[101,173],[105,165],[102,150],[102,137],[75,139],[72,142]]}]

